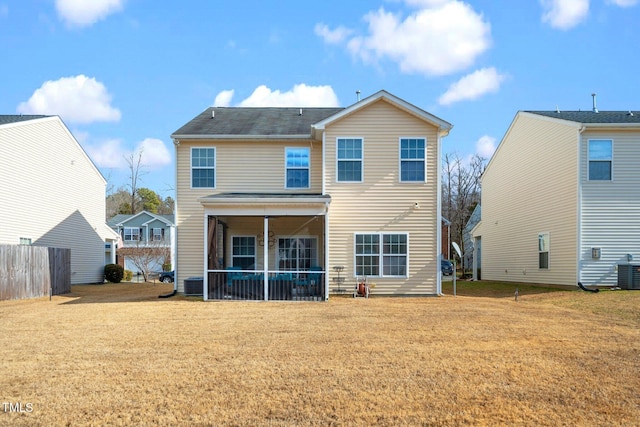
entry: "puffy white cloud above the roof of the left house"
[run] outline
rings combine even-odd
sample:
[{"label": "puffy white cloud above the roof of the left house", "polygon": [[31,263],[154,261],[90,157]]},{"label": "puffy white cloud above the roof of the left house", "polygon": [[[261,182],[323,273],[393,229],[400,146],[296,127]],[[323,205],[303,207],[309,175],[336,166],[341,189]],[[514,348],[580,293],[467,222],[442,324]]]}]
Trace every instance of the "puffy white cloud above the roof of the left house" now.
[{"label": "puffy white cloud above the roof of the left house", "polygon": [[110,103],[111,95],[102,83],[79,75],[44,82],[17,110],[22,114],[58,115],[71,123],[117,122],[120,110]]}]

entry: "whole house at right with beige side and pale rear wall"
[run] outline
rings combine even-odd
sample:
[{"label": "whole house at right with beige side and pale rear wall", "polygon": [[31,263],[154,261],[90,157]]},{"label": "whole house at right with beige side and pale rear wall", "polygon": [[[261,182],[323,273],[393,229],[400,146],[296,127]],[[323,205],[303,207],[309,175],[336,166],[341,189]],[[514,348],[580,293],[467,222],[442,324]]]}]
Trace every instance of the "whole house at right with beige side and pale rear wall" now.
[{"label": "whole house at right with beige side and pale rear wall", "polygon": [[517,113],[482,176],[476,271],[616,286],[618,270],[640,264],[638,165],[640,112]]}]

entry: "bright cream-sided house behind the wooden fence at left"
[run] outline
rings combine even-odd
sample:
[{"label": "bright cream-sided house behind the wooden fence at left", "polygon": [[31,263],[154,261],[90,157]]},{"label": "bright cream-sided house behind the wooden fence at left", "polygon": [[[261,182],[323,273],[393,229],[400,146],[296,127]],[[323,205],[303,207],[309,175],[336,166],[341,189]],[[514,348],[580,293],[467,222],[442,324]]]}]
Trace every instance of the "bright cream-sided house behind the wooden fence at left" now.
[{"label": "bright cream-sided house behind the wooden fence at left", "polygon": [[0,115],[0,243],[71,249],[71,284],[102,283],[118,235],[106,181],[58,116]]}]

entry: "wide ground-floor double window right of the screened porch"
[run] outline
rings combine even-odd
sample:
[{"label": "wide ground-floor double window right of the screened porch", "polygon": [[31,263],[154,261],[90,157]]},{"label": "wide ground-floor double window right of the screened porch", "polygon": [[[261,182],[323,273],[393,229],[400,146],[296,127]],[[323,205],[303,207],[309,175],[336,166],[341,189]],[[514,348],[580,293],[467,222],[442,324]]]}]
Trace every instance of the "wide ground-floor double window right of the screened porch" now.
[{"label": "wide ground-floor double window right of the screened porch", "polygon": [[356,234],[357,276],[406,276],[408,234]]}]

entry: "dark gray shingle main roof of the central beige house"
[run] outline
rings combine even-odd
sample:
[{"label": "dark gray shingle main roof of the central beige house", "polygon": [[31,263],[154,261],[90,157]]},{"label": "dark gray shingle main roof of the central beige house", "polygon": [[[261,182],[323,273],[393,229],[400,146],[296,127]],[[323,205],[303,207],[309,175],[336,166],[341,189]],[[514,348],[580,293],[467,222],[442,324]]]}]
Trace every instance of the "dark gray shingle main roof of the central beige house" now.
[{"label": "dark gray shingle main roof of the central beige house", "polygon": [[342,110],[343,108],[211,107],[175,131],[172,137],[311,135],[312,124]]}]

